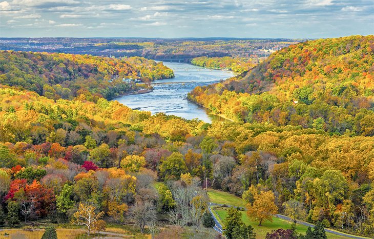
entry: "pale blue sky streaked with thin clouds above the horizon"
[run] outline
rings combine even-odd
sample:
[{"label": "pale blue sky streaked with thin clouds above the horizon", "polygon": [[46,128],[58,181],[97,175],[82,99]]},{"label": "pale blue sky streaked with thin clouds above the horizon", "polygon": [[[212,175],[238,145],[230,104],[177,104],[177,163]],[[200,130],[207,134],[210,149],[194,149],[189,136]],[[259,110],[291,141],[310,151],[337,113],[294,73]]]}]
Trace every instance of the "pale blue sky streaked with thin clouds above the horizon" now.
[{"label": "pale blue sky streaked with thin clouds above the horizon", "polygon": [[0,37],[374,34],[374,0],[0,0]]}]

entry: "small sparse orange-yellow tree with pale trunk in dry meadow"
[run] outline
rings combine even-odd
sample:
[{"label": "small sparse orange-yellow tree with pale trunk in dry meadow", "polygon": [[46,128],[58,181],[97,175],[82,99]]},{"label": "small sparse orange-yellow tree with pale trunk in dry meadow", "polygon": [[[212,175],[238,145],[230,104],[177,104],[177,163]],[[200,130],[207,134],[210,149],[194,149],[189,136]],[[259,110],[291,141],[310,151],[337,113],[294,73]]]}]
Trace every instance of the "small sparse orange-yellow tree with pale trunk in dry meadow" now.
[{"label": "small sparse orange-yellow tree with pale trunk in dry meadow", "polygon": [[90,235],[91,231],[105,231],[106,223],[100,218],[104,212],[96,214],[96,207],[90,203],[79,203],[79,208],[74,213],[71,220],[72,224],[86,226],[87,235]]}]

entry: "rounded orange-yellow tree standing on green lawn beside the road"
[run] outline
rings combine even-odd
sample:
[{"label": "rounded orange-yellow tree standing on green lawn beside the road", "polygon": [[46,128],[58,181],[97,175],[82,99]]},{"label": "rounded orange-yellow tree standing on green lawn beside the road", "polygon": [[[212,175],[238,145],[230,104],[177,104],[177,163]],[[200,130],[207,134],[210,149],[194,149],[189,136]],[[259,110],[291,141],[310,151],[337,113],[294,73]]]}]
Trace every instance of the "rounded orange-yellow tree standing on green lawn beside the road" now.
[{"label": "rounded orange-yellow tree standing on green lawn beside the road", "polygon": [[247,214],[254,220],[259,220],[259,226],[264,220],[273,221],[273,215],[278,212],[278,207],[274,204],[274,193],[272,191],[261,192],[254,196],[255,201],[251,205],[247,204]]}]

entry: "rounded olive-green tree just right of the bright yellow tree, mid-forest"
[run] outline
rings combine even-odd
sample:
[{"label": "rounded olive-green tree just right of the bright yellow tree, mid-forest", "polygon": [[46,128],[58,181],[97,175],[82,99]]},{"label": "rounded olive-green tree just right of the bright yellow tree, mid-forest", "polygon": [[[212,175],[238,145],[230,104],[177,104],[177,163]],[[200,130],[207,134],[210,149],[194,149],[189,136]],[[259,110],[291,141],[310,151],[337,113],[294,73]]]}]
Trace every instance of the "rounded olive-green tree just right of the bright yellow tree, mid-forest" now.
[{"label": "rounded olive-green tree just right of the bright yellow tree, mid-forest", "polygon": [[179,180],[180,174],[185,173],[187,167],[183,160],[183,154],[174,152],[166,158],[160,166],[160,173],[164,180],[176,179]]}]

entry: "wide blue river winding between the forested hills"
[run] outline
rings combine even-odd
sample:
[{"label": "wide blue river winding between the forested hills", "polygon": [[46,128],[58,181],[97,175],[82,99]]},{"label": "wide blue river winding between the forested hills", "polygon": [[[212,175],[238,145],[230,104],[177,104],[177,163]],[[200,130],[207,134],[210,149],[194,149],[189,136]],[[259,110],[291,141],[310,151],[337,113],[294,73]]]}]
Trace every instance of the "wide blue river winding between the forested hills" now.
[{"label": "wide blue river winding between the forested hills", "polygon": [[[196,86],[206,86],[221,79],[234,76],[231,71],[212,70],[186,63],[164,62],[165,66],[175,69],[175,78],[154,81],[154,90],[146,94],[126,95],[114,98],[115,101],[132,109],[151,111],[152,114],[164,112],[188,120],[198,118],[207,123],[226,121],[210,114],[208,110],[188,101],[187,94]],[[196,70],[196,68],[199,68]],[[190,69],[190,70],[186,70]]]}]

